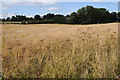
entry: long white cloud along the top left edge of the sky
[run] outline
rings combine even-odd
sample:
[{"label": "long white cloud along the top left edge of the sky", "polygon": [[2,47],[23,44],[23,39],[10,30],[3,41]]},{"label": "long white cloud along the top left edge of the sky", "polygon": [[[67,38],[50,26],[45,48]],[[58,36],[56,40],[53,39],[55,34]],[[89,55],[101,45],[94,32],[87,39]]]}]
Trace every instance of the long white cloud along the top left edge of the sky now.
[{"label": "long white cloud along the top left edge of the sky", "polygon": [[[38,1],[38,2],[37,2]],[[56,2],[50,2],[49,0],[43,0],[39,2],[39,0],[5,0],[1,2],[2,5],[0,5],[0,10],[6,10],[10,8],[11,6],[49,6],[49,5],[54,5]]]}]

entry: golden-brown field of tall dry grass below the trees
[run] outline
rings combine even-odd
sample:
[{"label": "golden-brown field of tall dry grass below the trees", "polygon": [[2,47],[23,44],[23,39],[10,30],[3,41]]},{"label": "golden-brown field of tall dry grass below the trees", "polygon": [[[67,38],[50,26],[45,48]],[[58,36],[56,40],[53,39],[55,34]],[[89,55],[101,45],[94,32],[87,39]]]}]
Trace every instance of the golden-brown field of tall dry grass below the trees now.
[{"label": "golden-brown field of tall dry grass below the trees", "polygon": [[118,23],[3,24],[5,78],[118,78]]}]

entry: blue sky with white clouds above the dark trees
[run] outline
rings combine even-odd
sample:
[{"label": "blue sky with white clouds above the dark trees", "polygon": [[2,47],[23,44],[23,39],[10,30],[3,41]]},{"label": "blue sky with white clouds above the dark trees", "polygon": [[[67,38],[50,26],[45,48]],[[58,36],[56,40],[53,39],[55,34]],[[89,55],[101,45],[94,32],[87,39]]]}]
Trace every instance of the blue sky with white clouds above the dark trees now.
[{"label": "blue sky with white clouds above the dark trees", "polygon": [[[16,2],[17,1],[17,2]],[[8,0],[2,1],[2,7],[0,7],[0,13],[2,17],[11,17],[12,15],[26,15],[28,17],[33,17],[33,15],[39,14],[44,15],[47,13],[54,14],[63,14],[67,15],[71,12],[76,12],[78,9],[85,7],[87,5],[91,5],[97,8],[106,8],[110,12],[118,11],[118,0],[74,0],[74,2],[70,0],[64,0],[64,2],[60,2],[58,0]],[[86,2],[85,2],[86,1]],[[91,1],[91,2],[90,2]],[[96,2],[95,2],[96,1]]]}]

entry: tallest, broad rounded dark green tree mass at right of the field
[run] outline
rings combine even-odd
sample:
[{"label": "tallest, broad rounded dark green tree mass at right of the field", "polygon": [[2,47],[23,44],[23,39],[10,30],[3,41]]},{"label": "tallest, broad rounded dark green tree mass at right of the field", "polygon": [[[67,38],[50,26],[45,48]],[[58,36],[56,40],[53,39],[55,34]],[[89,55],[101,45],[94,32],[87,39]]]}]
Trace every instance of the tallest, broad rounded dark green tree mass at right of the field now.
[{"label": "tallest, broad rounded dark green tree mass at right of the field", "polygon": [[79,23],[93,24],[93,23],[108,23],[110,22],[110,13],[105,8],[94,8],[86,6],[77,11]]}]

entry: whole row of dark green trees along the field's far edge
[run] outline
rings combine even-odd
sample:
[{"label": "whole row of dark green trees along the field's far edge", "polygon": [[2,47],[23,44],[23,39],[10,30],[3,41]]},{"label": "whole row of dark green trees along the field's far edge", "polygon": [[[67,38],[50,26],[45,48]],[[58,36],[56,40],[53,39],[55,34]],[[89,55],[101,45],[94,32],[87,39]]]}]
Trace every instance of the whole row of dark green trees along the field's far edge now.
[{"label": "whole row of dark green trees along the field's far edge", "polygon": [[94,8],[93,6],[82,7],[77,12],[64,16],[61,14],[48,13],[44,16],[35,15],[28,18],[23,15],[16,15],[2,19],[2,21],[21,21],[23,24],[40,24],[40,23],[60,23],[60,24],[97,24],[120,22],[120,12],[109,12],[105,8]]}]

